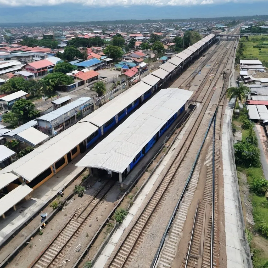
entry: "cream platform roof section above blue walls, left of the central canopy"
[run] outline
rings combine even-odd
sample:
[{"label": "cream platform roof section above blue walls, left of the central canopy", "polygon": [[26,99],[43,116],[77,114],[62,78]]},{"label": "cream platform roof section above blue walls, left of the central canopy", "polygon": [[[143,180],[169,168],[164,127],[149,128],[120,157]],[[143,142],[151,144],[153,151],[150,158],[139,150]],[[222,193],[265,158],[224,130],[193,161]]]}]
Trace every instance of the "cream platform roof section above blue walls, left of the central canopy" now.
[{"label": "cream platform roof section above blue walls, left of the central canopy", "polygon": [[151,88],[152,87],[146,83],[138,82],[133,87],[107,102],[105,105],[99,107],[99,109],[82,118],[78,124],[80,122],[88,121],[101,127]]}]

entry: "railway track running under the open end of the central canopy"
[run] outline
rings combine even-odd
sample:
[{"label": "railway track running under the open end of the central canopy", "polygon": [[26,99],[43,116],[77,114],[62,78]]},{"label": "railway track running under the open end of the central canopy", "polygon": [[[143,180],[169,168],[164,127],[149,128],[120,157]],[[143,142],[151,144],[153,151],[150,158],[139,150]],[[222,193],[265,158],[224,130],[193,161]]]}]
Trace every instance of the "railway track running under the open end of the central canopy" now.
[{"label": "railway track running under the open end of the central canopy", "polygon": [[93,196],[90,196],[80,208],[76,210],[66,225],[60,230],[53,241],[40,254],[38,259],[30,265],[31,268],[59,267],[64,253],[73,245],[84,227],[98,210],[99,204],[113,187],[114,181],[107,180],[102,183]]}]

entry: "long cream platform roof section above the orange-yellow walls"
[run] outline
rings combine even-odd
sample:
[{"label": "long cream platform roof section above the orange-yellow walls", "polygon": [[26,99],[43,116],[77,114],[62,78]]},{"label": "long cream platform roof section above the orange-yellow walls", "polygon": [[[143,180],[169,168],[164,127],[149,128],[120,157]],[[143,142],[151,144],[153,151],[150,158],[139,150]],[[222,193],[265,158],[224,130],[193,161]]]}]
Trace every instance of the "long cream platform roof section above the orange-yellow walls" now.
[{"label": "long cream platform roof section above the orange-yellow walls", "polygon": [[70,126],[29,154],[0,170],[0,180],[1,174],[14,172],[27,181],[32,181],[97,130],[98,128],[89,122]]}]

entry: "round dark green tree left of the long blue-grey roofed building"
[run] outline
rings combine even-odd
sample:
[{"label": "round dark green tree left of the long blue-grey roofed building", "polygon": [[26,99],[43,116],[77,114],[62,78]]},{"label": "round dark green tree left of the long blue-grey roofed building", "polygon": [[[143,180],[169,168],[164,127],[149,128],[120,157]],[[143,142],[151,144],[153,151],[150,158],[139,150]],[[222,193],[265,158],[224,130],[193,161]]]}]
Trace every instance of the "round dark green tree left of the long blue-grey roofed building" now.
[{"label": "round dark green tree left of the long blue-grey roofed building", "polygon": [[23,124],[36,118],[39,114],[39,111],[35,109],[34,103],[26,99],[16,101],[12,106],[12,112],[18,118],[18,121]]}]

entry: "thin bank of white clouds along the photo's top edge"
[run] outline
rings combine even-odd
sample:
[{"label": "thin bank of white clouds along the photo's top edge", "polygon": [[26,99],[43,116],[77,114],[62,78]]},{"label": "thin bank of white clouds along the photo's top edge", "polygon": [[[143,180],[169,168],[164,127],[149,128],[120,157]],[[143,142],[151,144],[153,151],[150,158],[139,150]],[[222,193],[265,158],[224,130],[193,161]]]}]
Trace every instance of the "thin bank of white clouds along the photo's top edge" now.
[{"label": "thin bank of white clouds along the photo's top edge", "polygon": [[[152,5],[152,6],[190,6],[207,5],[226,2],[249,2],[257,0],[0,0],[0,6],[53,6],[63,3],[75,3],[87,6],[131,6],[131,5]],[[262,0],[267,1],[267,0]]]}]

